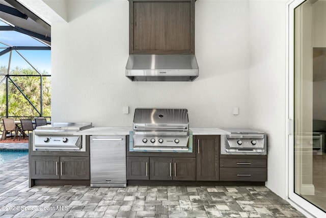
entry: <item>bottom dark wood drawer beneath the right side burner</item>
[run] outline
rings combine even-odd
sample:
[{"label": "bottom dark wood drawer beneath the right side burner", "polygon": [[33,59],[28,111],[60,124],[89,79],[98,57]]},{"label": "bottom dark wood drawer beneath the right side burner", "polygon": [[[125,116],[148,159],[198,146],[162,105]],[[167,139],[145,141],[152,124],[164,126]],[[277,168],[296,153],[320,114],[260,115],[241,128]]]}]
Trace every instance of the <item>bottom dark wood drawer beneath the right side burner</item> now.
[{"label": "bottom dark wood drawer beneath the right side burner", "polygon": [[267,168],[220,167],[220,181],[252,181],[267,180]]}]

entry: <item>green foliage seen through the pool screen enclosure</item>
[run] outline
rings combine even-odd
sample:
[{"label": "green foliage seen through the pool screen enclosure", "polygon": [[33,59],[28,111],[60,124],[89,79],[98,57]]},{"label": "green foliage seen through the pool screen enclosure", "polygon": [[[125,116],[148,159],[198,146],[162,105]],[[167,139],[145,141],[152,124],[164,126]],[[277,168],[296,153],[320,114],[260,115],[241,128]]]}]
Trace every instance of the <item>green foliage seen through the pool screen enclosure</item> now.
[{"label": "green foliage seen through the pool screen enclosure", "polygon": [[[8,69],[5,66],[0,66],[0,81],[7,74]],[[41,77],[37,76],[37,72],[32,68],[22,69],[16,67],[11,69],[8,82],[8,112],[9,116],[40,116],[34,109],[41,112]],[[23,75],[33,75],[23,76]],[[42,75],[47,75],[47,72],[42,72]],[[6,116],[6,81],[0,84],[0,116]],[[19,89],[29,99],[26,100]],[[51,77],[43,77],[43,114],[42,116],[51,116]]]}]

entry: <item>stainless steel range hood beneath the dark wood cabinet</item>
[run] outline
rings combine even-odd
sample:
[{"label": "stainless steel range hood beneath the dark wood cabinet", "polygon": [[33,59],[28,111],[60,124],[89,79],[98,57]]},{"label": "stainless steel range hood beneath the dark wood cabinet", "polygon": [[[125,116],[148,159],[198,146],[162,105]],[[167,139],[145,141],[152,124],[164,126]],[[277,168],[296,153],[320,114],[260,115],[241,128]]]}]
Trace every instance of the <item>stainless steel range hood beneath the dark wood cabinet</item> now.
[{"label": "stainless steel range hood beneath the dark wood cabinet", "polygon": [[194,81],[195,55],[129,55],[126,77],[131,81]]}]

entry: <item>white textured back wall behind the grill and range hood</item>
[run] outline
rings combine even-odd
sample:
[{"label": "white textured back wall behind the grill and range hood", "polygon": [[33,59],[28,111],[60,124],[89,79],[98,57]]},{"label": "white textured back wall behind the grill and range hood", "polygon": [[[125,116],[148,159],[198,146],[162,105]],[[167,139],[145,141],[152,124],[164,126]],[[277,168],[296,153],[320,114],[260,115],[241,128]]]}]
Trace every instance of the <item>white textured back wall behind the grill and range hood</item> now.
[{"label": "white textured back wall behind the grill and range hood", "polygon": [[184,107],[191,127],[248,126],[248,1],[196,2],[195,82],[125,77],[128,1],[68,1],[67,13],[51,25],[53,122],[131,126],[136,107]]}]

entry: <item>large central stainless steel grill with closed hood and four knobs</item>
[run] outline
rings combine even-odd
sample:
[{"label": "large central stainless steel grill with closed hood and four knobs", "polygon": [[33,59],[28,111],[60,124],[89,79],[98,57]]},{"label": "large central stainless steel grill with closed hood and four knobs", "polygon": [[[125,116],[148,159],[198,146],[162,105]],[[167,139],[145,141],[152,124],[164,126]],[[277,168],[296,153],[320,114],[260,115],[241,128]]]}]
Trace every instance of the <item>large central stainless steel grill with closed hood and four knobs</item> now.
[{"label": "large central stainless steel grill with closed hood and four knobs", "polygon": [[188,151],[187,109],[136,108],[133,150]]}]

